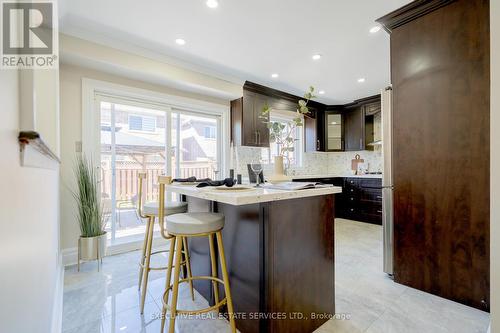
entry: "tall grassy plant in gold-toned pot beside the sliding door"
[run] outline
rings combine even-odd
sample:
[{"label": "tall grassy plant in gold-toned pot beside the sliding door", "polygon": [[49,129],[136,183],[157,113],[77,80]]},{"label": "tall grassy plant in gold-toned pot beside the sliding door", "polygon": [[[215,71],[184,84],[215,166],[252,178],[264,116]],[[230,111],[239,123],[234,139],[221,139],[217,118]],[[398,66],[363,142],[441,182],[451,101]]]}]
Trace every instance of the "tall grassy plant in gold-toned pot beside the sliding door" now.
[{"label": "tall grassy plant in gold-toned pot beside the sliding door", "polygon": [[106,255],[102,207],[98,196],[98,174],[85,156],[78,157],[75,168],[78,189],[73,193],[78,205],[78,267],[81,260],[99,260]]}]

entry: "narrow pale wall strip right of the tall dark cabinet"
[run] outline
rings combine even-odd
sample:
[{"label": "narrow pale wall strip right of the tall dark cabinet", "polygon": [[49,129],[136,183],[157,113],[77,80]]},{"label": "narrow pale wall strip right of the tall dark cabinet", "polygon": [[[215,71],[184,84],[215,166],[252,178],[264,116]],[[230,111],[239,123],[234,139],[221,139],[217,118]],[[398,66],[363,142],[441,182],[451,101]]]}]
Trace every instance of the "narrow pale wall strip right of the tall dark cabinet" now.
[{"label": "narrow pale wall strip right of the tall dark cabinet", "polygon": [[491,22],[491,332],[500,332],[500,1],[490,1]]}]

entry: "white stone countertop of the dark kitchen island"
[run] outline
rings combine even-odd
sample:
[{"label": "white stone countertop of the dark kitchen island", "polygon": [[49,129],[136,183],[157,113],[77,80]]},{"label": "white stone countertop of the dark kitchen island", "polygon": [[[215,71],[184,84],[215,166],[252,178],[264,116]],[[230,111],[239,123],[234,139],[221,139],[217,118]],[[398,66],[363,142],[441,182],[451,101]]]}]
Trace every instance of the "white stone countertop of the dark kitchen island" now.
[{"label": "white stone countertop of the dark kitchen island", "polygon": [[184,194],[199,199],[217,201],[236,206],[268,201],[314,197],[342,192],[342,188],[339,186],[298,191],[283,191],[259,188],[245,191],[223,191],[217,190],[215,187],[198,188],[195,185],[178,184],[169,185],[167,186],[166,190],[167,192]]}]

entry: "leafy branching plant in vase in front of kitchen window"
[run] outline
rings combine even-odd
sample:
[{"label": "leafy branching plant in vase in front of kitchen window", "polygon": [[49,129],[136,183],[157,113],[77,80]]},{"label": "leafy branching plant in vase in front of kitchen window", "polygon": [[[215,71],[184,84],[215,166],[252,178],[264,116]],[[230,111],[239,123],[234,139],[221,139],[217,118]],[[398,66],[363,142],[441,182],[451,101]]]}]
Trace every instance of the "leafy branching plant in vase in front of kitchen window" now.
[{"label": "leafy branching plant in vase in front of kitchen window", "polygon": [[285,176],[284,168],[284,158],[286,158],[286,169],[290,167],[290,152],[295,149],[294,133],[298,126],[304,126],[303,118],[304,115],[309,113],[309,108],[307,104],[314,96],[314,87],[309,87],[309,91],[304,94],[304,99],[299,100],[296,117],[289,122],[278,122],[278,121],[268,121],[269,114],[272,108],[267,104],[262,108],[260,118],[265,119],[267,128],[269,129],[269,140],[271,142],[276,142],[278,145],[278,155],[274,157],[274,175],[272,176],[274,181],[287,180]]}]

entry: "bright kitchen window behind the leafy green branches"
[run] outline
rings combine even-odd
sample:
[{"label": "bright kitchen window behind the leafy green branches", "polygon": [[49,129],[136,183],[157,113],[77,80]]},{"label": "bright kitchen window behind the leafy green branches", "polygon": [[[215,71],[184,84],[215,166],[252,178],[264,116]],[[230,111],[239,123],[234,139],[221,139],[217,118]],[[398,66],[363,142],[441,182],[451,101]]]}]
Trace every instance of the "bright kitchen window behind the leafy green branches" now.
[{"label": "bright kitchen window behind the leafy green branches", "polygon": [[[288,111],[271,111],[270,120],[280,122],[283,124],[287,124],[295,118],[296,114]],[[289,127],[287,126],[284,131],[288,131]],[[295,139],[295,145],[293,152],[288,152],[284,157],[285,165],[287,160],[290,162],[290,166],[300,166],[302,164],[302,151],[304,150],[304,138],[303,138],[303,129],[302,126],[298,126],[294,133],[292,133],[292,137]],[[274,163],[274,157],[279,154],[279,145],[276,142],[271,142],[269,144],[269,149],[262,149],[262,160],[264,163]]]}]

